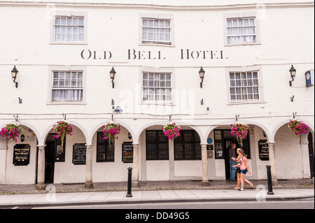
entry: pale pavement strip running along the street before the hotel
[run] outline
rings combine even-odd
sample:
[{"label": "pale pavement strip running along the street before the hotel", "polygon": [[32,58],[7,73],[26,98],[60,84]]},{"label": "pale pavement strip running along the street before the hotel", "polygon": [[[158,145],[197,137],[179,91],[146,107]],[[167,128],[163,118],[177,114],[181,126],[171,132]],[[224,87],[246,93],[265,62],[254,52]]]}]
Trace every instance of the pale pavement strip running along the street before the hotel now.
[{"label": "pale pavement strip running along the street before the hotel", "polygon": [[310,179],[278,180],[268,193],[267,180],[251,180],[254,189],[233,189],[236,182],[209,180],[202,187],[198,180],[140,182],[127,195],[127,182],[95,182],[94,189],[84,189],[84,184],[51,184],[46,190],[36,190],[36,185],[0,185],[0,208],[32,208],[52,206],[79,206],[120,203],[163,203],[193,201],[290,201],[314,199],[314,181]]}]

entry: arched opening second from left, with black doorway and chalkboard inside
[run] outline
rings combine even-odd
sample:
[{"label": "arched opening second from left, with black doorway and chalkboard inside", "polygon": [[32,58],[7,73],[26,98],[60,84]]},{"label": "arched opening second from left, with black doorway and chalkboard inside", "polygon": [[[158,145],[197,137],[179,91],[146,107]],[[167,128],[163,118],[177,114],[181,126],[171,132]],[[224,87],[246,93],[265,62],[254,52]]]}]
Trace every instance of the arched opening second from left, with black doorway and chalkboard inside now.
[{"label": "arched opening second from left, with black doorway and chalkboard inside", "polygon": [[69,124],[72,135],[66,135],[63,145],[61,137],[55,138],[53,124],[45,133],[45,184],[85,182],[85,174],[82,174],[86,162],[85,131],[78,127],[80,124]]}]

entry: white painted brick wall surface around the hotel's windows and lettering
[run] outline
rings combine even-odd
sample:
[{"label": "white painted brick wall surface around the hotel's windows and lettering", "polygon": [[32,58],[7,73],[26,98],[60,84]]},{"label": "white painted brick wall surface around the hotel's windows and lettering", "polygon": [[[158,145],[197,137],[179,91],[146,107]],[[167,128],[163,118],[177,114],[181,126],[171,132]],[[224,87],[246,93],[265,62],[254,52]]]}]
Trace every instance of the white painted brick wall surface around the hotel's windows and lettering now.
[{"label": "white painted brick wall surface around the hotel's windows and lettering", "polygon": [[[108,2],[108,1],[106,1]],[[140,0],[137,2],[144,3]],[[232,1],[227,1],[226,3]],[[251,1],[246,1],[251,2]],[[264,1],[265,3],[274,1]],[[301,1],[290,1],[301,2]],[[136,2],[134,2],[136,3]],[[198,1],[200,6],[221,4],[218,1]],[[178,6],[179,1],[173,2]],[[193,4],[193,3],[187,3]],[[297,112],[300,119],[306,121],[312,127],[314,133],[314,87],[304,87],[304,72],[314,69],[314,10],[312,7],[283,7],[265,8],[265,17],[260,20],[260,45],[240,45],[224,47],[223,16],[229,13],[253,13],[257,8],[241,9],[207,9],[202,10],[172,10],[172,8],[134,8],[134,7],[59,7],[57,11],[85,11],[87,12],[87,45],[63,45],[49,44],[50,21],[46,19],[47,8],[45,4],[38,6],[19,6],[0,4],[0,126],[13,119],[13,115],[19,113],[20,121],[34,127],[38,133],[38,143],[45,143],[45,134],[57,120],[62,119],[62,113],[111,113],[111,99],[115,100],[115,106],[120,106],[123,113],[187,113],[193,107],[193,113],[207,114],[195,116],[190,124],[202,129],[202,125],[209,127],[218,123],[234,122],[235,115],[240,114],[241,122],[260,123],[269,131],[269,137],[275,128],[292,117]],[[15,19],[13,12],[18,11]],[[139,45],[139,13],[170,14],[174,15],[175,46]],[[288,16],[290,15],[290,16]],[[35,25],[36,24],[36,25]],[[113,57],[104,59],[82,59],[80,52],[83,49],[94,50],[100,53],[104,50],[111,51]],[[157,53],[159,50],[167,59],[127,59],[127,50],[151,50]],[[181,59],[181,49],[193,50],[223,50],[228,59]],[[185,57],[184,57],[185,58]],[[297,75],[293,86],[289,87],[290,64],[297,69]],[[19,86],[15,89],[10,79],[10,70],[17,66]],[[86,77],[86,105],[48,105],[48,66],[52,65],[80,65],[87,66]],[[241,105],[228,105],[227,88],[228,80],[225,69],[232,66],[261,66],[260,82],[263,87],[264,103],[245,103]],[[111,87],[109,71],[114,66],[116,69],[115,88]],[[169,67],[174,68],[174,90],[186,100],[178,100],[174,106],[156,106],[147,109],[148,106],[140,103],[139,85],[141,85],[141,67]],[[200,66],[206,71],[203,88],[200,88],[198,71]],[[5,93],[3,93],[5,92]],[[6,93],[9,92],[9,93]],[[193,101],[188,101],[193,95]],[[294,101],[290,102],[290,97]],[[18,103],[21,97],[22,104]],[[200,100],[204,99],[204,105]],[[130,103],[132,101],[132,103]],[[184,106],[185,105],[185,106]],[[56,114],[56,115],[22,115],[22,114]],[[94,129],[102,122],[111,119],[111,115],[67,115],[69,120],[77,122],[91,141],[95,144]],[[130,117],[130,119],[120,119]],[[155,122],[151,116],[147,119],[134,118],[144,115],[114,115],[116,120],[126,123],[127,128],[134,134],[140,133],[146,124]],[[169,117],[162,117],[163,122]],[[176,117],[173,117],[174,120]],[[156,120],[158,122],[158,120]],[[185,120],[179,120],[185,121]],[[221,125],[222,127],[222,125]],[[262,129],[256,127],[258,133]],[[123,132],[127,132],[124,130]],[[205,131],[202,130],[205,135]],[[125,135],[122,135],[125,137]],[[301,155],[298,151],[300,139],[294,137],[286,129],[285,125],[279,129],[276,141],[276,169],[279,178],[302,178],[300,164]],[[71,164],[72,144],[77,139],[83,141],[83,133],[73,136],[67,141],[67,154],[65,163],[56,163],[56,182],[84,182],[85,166],[73,166]],[[258,150],[255,135],[255,146],[252,150]],[[134,139],[138,140],[138,138]],[[207,137],[202,136],[202,141]],[[120,144],[119,144],[120,145]],[[8,148],[7,159],[12,159],[12,148]],[[120,151],[121,148],[116,148]],[[95,152],[95,147],[93,148]],[[257,152],[258,153],[258,152]],[[125,164],[120,164],[120,152],[116,152],[118,163],[99,164],[93,163],[93,178],[97,181],[125,180]],[[145,157],[145,156],[144,156]],[[296,159],[290,160],[290,157]],[[0,158],[3,160],[3,157]],[[95,159],[95,157],[93,157]],[[255,157],[252,164],[257,165],[258,178],[265,178],[266,161],[260,161]],[[258,159],[258,160],[257,160]],[[215,159],[209,159],[210,166],[216,166],[216,173],[224,174],[222,164],[214,165]],[[34,183],[35,155],[31,153],[31,164],[21,171],[20,167],[8,164],[6,182],[8,183]],[[221,166],[219,170],[218,166]],[[66,175],[62,169],[75,170],[74,174]],[[115,169],[118,172],[110,171]],[[154,170],[156,166],[151,166]],[[148,170],[150,171],[150,170]],[[178,170],[175,170],[178,171]],[[209,170],[210,172],[211,170]],[[220,172],[221,171],[221,172]],[[154,172],[154,171],[153,171]],[[2,173],[2,172],[1,172]],[[183,173],[180,173],[181,175]],[[200,173],[201,174],[201,173]],[[27,175],[27,179],[19,180],[20,176]],[[150,175],[147,173],[146,175]],[[209,175],[215,175],[209,173]]]}]

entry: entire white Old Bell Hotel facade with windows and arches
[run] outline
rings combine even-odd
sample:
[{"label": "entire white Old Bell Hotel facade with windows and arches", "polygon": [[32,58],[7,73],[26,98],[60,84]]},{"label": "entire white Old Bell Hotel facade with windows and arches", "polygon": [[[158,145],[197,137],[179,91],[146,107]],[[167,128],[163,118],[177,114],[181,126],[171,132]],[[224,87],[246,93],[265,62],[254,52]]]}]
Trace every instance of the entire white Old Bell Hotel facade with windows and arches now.
[{"label": "entire white Old Bell Hotel facade with windows and arches", "polygon": [[[266,165],[275,184],[314,177],[314,1],[1,1],[0,20],[0,128],[23,129],[0,138],[0,184],[88,188],[132,167],[134,187],[207,186],[230,178],[235,122],[250,126],[248,179],[266,179]],[[308,134],[288,128],[293,117]],[[73,127],[63,148],[59,120]]]}]

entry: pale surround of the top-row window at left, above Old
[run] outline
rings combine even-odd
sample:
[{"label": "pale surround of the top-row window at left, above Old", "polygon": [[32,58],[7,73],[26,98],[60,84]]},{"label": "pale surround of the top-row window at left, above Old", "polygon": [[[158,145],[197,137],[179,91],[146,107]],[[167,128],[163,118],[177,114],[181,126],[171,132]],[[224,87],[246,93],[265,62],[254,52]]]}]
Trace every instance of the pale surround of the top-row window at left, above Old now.
[{"label": "pale surround of the top-row window at left, above Old", "polygon": [[[55,17],[83,17],[84,36],[83,41],[55,41]],[[69,44],[86,45],[87,44],[87,13],[86,12],[55,12],[50,19],[50,44]]]}]

